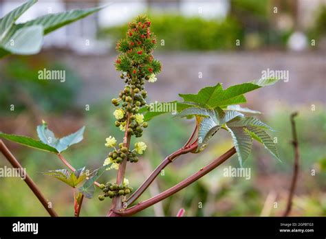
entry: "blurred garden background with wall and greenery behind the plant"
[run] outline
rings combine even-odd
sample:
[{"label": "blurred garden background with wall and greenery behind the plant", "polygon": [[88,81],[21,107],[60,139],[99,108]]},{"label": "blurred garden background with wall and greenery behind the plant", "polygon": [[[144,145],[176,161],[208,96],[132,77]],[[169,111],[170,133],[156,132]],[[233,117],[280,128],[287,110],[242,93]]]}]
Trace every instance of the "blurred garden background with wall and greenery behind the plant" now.
[{"label": "blurred garden background with wall and greenery behind the plant", "polygon": [[[0,16],[22,1],[0,0]],[[116,41],[138,14],[151,18],[157,36],[155,58],[163,71],[147,84],[147,102],[179,99],[208,85],[224,87],[261,78],[262,71],[285,70],[289,80],[248,94],[248,104],[276,129],[281,162],[254,145],[245,167],[252,177],[224,177],[223,169],[239,167],[232,157],[181,192],[138,216],[281,216],[292,177],[294,153],[290,113],[296,117],[301,152],[300,174],[292,216],[326,216],[326,3],[323,0],[41,0],[26,12],[27,21],[49,12],[105,5],[97,14],[45,37],[35,56],[0,61],[0,131],[36,137],[45,120],[59,137],[85,125],[85,138],[64,152],[75,168],[98,168],[107,156],[105,138],[122,133],[114,126],[111,98],[123,82],[114,69]],[[38,80],[43,69],[65,70],[66,80]],[[10,110],[14,105],[14,111]],[[149,122],[142,137],[149,146],[137,164],[127,166],[133,188],[166,155],[180,148],[195,122],[163,115]],[[70,187],[41,172],[64,168],[55,155],[5,142],[61,216],[73,216]],[[186,155],[166,168],[138,201],[154,196],[197,172],[232,146],[219,132],[205,152]],[[0,155],[0,167],[9,166]],[[315,172],[315,174],[314,174]],[[100,182],[114,181],[107,171]],[[100,191],[96,191],[98,195]],[[81,216],[105,216],[111,201],[85,199]],[[276,204],[275,204],[276,203]],[[17,178],[0,178],[0,216],[47,216],[28,186]]]}]

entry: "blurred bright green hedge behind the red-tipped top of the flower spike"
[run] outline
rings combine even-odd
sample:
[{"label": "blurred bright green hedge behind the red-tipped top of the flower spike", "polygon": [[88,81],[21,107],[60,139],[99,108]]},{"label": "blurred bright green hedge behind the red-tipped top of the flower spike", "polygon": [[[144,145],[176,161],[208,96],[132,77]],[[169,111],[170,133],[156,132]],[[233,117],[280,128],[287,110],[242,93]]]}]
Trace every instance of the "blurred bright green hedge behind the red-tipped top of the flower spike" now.
[{"label": "blurred bright green hedge behind the red-tipped top of the flower spike", "polygon": [[[217,21],[174,14],[149,14],[149,18],[151,29],[157,36],[157,50],[234,49],[235,41],[243,38],[239,23],[231,17]],[[126,24],[108,27],[101,30],[100,37],[108,37],[115,46],[126,30]]]}]

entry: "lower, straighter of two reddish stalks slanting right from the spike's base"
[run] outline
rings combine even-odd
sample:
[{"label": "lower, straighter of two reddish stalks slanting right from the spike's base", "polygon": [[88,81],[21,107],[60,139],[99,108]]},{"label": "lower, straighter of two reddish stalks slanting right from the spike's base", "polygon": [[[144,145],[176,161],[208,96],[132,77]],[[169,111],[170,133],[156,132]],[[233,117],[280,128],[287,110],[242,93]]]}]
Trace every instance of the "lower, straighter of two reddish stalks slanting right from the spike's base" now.
[{"label": "lower, straighter of two reddish stalks slanting right from the spike's base", "polygon": [[226,160],[228,160],[232,155],[235,154],[235,152],[236,152],[235,147],[232,147],[230,148],[230,150],[225,152],[224,155],[221,155],[221,157],[215,159],[212,163],[208,164],[208,166],[200,169],[198,172],[191,175],[191,177],[184,179],[184,181],[181,181],[177,185],[169,188],[169,190],[161,192],[160,194],[153,196],[152,198],[149,198],[144,202],[140,202],[137,205],[130,207],[128,209],[121,209],[120,211],[113,210],[113,213],[118,214],[120,216],[131,216],[133,214],[136,214],[146,209],[147,207],[151,207],[151,205],[154,205],[155,203],[158,203],[164,200],[165,198],[168,198],[169,196],[179,192],[180,190],[184,189],[184,187],[191,185],[191,183],[197,181],[204,175],[208,174],[208,172],[212,171],[213,169],[217,168],[217,166],[221,165],[221,163],[224,163]]}]

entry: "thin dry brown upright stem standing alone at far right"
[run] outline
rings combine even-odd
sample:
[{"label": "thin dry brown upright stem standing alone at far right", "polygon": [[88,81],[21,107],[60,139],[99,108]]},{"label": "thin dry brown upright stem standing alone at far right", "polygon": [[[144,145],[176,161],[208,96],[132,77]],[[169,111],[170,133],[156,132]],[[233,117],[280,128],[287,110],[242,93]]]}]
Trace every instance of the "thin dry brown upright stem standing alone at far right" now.
[{"label": "thin dry brown upright stem standing alone at far right", "polygon": [[296,189],[296,181],[298,180],[298,168],[299,168],[299,150],[298,150],[298,136],[296,134],[296,122],[294,121],[294,117],[298,115],[297,112],[292,113],[290,116],[291,126],[292,126],[292,145],[294,148],[294,166],[293,166],[293,177],[290,186],[289,196],[287,198],[287,206],[283,216],[289,216],[292,209],[292,200],[294,196],[294,190]]}]

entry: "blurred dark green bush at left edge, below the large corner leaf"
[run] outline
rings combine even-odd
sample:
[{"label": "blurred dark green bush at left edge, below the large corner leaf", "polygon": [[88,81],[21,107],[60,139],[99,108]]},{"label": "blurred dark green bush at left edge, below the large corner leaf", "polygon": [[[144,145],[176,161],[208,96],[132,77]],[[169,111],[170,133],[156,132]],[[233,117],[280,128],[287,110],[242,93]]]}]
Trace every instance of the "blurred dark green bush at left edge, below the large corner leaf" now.
[{"label": "blurred dark green bush at left edge, below the large corner leaf", "polygon": [[[39,80],[38,71],[43,69],[65,71],[65,84],[60,80]],[[8,113],[11,104],[16,113],[34,104],[45,112],[65,112],[74,105],[81,82],[67,65],[37,57],[33,61],[24,56],[14,57],[1,65],[0,70],[0,104],[3,106],[0,113],[3,115]]]}]

